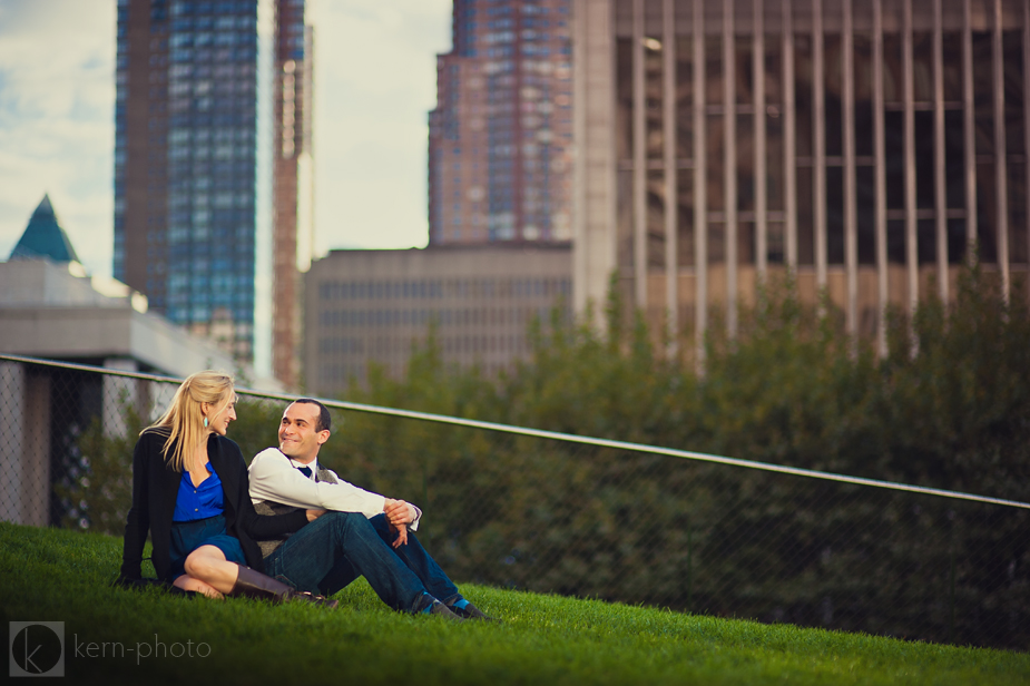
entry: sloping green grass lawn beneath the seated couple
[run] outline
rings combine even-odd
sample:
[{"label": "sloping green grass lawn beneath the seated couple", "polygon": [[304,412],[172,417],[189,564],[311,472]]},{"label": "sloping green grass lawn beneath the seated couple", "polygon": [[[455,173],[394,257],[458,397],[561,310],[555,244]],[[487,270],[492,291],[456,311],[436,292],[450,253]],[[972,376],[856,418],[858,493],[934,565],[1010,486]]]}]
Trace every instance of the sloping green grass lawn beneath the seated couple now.
[{"label": "sloping green grass lawn beneath the seated couple", "polygon": [[[4,645],[9,621],[63,621],[66,675],[107,685],[1030,684],[1023,653],[472,585],[462,591],[503,624],[394,612],[364,580],[335,611],[129,591],[109,586],[120,559],[118,538],[0,522]],[[195,657],[146,655],[155,643]]]}]

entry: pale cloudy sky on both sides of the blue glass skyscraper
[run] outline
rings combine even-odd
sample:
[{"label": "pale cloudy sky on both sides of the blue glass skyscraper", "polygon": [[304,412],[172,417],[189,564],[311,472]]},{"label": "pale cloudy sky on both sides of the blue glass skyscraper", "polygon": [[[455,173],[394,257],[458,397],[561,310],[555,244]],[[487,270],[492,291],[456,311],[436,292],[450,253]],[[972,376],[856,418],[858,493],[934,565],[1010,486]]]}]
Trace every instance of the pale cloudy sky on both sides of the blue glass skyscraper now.
[{"label": "pale cloudy sky on both sides of the blue glass skyscraper", "polygon": [[[308,0],[315,251],[422,247],[428,117],[451,0]],[[43,194],[110,275],[116,0],[0,0],[0,259]]]}]

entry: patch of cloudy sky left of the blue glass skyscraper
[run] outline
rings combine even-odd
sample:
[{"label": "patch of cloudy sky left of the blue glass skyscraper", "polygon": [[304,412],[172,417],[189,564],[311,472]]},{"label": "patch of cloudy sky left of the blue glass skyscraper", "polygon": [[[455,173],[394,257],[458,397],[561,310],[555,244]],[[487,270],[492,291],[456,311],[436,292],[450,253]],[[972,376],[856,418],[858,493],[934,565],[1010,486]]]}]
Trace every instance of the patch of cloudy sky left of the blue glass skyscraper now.
[{"label": "patch of cloudy sky left of the blue glass skyscraper", "polygon": [[0,258],[45,193],[79,257],[110,273],[115,3],[0,2]]}]

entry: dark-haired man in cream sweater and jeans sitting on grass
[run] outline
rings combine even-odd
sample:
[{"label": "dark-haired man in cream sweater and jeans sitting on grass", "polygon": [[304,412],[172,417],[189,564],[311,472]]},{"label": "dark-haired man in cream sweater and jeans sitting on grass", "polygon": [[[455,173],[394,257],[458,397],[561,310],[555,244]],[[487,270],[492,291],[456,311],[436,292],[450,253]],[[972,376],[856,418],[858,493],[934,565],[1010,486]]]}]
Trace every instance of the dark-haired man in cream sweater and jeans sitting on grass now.
[{"label": "dark-haired man in cream sweater and jeans sitting on grass", "polygon": [[251,499],[258,513],[330,510],[287,538],[259,541],[265,572],[326,597],[364,576],[395,610],[491,619],[462,598],[419,543],[419,508],[357,488],[318,465],[331,421],[317,400],[297,400],[283,413],[278,449],[263,450],[251,462]]}]

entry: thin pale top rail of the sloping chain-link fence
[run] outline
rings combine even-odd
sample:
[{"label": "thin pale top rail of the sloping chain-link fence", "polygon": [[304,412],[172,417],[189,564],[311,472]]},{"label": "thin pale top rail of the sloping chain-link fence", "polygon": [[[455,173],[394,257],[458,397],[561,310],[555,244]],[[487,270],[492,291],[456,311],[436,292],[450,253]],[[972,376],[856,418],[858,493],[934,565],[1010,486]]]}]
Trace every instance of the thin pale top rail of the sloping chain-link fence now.
[{"label": "thin pale top rail of the sloping chain-link fence", "polygon": [[[52,360],[40,360],[36,357],[22,357],[19,355],[0,355],[0,360],[12,362],[26,362],[31,364],[42,364],[46,366],[57,366],[61,369],[81,370],[88,372],[99,372],[111,376],[127,376],[130,379],[143,379],[146,381],[158,381],[163,383],[182,383],[182,379],[171,376],[156,376],[154,374],[141,374],[139,372],[124,372],[118,370],[108,370],[105,367],[89,366],[85,364],[72,364],[69,362],[55,362]],[[291,393],[269,393],[265,391],[254,391],[251,389],[237,389],[242,395],[253,395],[266,398],[269,400],[294,401],[303,395]],[[756,462],[753,460],[739,460],[737,458],[726,458],[723,455],[713,455],[705,452],[694,452],[690,450],[677,450],[675,448],[660,448],[656,445],[646,445],[644,443],[630,443],[627,441],[614,441],[610,439],[597,439],[592,437],[576,435],[573,433],[560,433],[557,431],[545,431],[542,429],[528,429],[526,427],[513,427],[511,424],[498,424],[494,422],[483,422],[474,419],[461,419],[458,416],[448,416],[445,414],[431,414],[429,412],[415,412],[412,410],[399,410],[396,408],[383,408],[380,405],[366,405],[362,403],[347,402],[344,400],[318,399],[328,408],[340,410],[351,410],[353,412],[366,412],[370,414],[384,414],[388,416],[402,416],[426,422],[436,422],[440,424],[451,424],[453,427],[468,427],[470,429],[484,429],[487,431],[498,431],[501,433],[512,433],[516,435],[529,435],[540,439],[551,439],[555,441],[565,441],[567,443],[579,443],[582,445],[595,445],[598,448],[614,448],[631,452],[646,452],[651,454],[668,455],[670,458],[680,458],[684,460],[696,460],[699,462],[714,462],[716,464],[729,464],[732,467],[743,467],[746,469],[756,469],[761,471],[777,472],[781,474],[792,474],[795,477],[806,477],[810,479],[822,479],[824,481],[837,481],[841,483],[853,483],[855,486],[870,486],[894,491],[908,491],[911,493],[922,493],[924,496],[938,496],[941,498],[953,498],[957,500],[970,500],[973,502],[985,502],[990,504],[1001,504],[1011,508],[1021,508],[1030,510],[1030,502],[1020,502],[1018,500],[1004,500],[1002,498],[990,498],[987,496],[977,496],[973,493],[963,493],[961,491],[948,491],[943,489],[926,488],[922,486],[911,486],[908,483],[897,483],[894,481],[881,481],[877,479],[863,479],[861,477],[848,477],[847,474],[835,474],[833,472],[823,472],[812,469],[798,469],[796,467],[784,467],[781,464],[769,464],[768,462]]]}]

